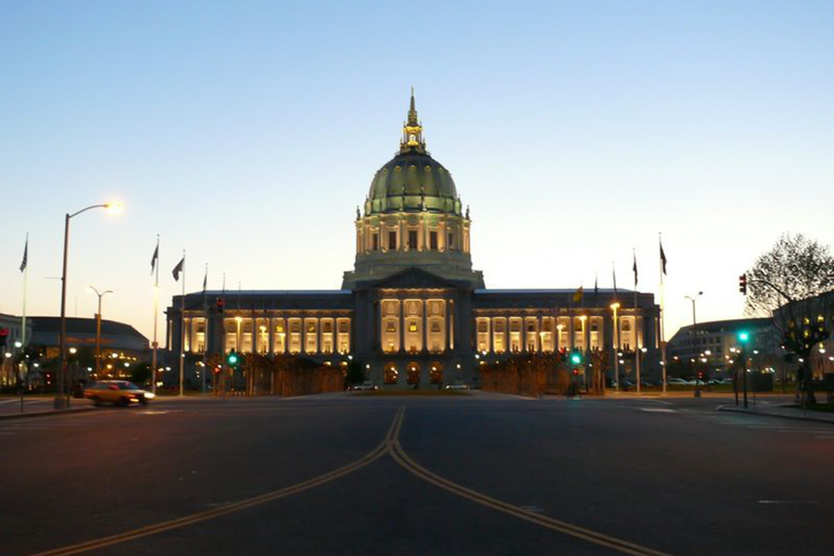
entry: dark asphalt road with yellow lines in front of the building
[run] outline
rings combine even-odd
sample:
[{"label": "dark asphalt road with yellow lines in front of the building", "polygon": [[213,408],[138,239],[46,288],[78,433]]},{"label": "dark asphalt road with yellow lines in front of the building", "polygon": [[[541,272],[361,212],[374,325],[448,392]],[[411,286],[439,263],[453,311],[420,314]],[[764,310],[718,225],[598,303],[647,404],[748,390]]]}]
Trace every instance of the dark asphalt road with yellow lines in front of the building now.
[{"label": "dark asphalt road with yellow lines in front of the building", "polygon": [[728,400],[167,400],[0,420],[0,554],[834,549],[834,426]]}]

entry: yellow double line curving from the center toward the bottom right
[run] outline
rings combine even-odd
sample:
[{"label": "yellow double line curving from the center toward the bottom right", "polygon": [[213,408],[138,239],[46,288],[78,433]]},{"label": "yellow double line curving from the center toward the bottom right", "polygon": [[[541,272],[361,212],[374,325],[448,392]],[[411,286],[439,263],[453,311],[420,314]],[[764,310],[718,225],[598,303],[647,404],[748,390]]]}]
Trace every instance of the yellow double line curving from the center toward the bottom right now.
[{"label": "yellow double line curving from the center toward the bottom right", "polygon": [[560,533],[565,533],[570,536],[581,539],[583,541],[587,541],[590,543],[593,543],[599,546],[611,548],[622,554],[630,554],[632,556],[670,556],[668,553],[665,553],[665,552],[655,551],[654,548],[648,548],[646,546],[641,546],[639,544],[631,543],[622,539],[617,539],[616,536],[609,536],[603,533],[597,533],[596,531],[592,531],[590,529],[584,529],[582,527],[574,526],[566,521],[560,521],[558,519],[554,519],[547,516],[543,516],[541,514],[536,514],[534,511],[530,511],[520,506],[515,506],[513,504],[502,502],[500,500],[493,498],[485,494],[481,494],[480,492],[473,491],[466,486],[462,486],[455,482],[450,481],[448,479],[445,479],[439,475],[435,475],[429,471],[425,467],[417,464],[414,459],[412,459],[410,456],[408,456],[408,454],[405,453],[405,451],[403,450],[403,446],[400,444],[400,430],[403,427],[404,413],[405,413],[405,408],[402,407],[401,413],[397,415],[399,422],[396,424],[396,429],[394,430],[394,434],[390,437],[388,440],[388,453],[391,455],[391,457],[394,458],[394,460],[397,464],[400,464],[403,468],[405,468],[407,471],[412,472],[413,475],[416,475],[418,478],[427,482],[430,482],[431,484],[434,484],[435,486],[439,486],[443,490],[446,490],[453,494],[457,494],[458,496],[462,496],[471,502],[481,504],[489,508],[503,511],[504,514],[508,514],[519,519],[530,521],[534,525],[544,527],[546,529],[551,529],[553,531],[558,531]]}]

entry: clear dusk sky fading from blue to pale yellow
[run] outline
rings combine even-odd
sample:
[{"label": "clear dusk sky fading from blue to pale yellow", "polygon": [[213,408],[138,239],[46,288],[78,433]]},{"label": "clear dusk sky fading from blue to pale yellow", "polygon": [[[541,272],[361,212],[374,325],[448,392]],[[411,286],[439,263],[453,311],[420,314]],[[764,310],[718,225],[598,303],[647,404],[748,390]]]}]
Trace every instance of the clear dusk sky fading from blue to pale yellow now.
[{"label": "clear dusk sky fading from blue to pale yellow", "polygon": [[[785,231],[834,243],[834,2],[0,1],[0,313],[152,331],[180,286],[338,289],[415,88],[488,288],[658,292],[737,318]],[[160,318],[164,342],[164,319]]]}]

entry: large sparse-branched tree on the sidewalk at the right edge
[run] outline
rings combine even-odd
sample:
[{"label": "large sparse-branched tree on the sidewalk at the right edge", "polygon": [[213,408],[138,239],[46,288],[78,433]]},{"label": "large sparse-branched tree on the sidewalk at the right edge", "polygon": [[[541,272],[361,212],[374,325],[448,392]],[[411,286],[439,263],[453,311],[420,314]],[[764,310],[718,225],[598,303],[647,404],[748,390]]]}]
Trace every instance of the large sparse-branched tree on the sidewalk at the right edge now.
[{"label": "large sparse-branched tree on the sidewalk at the right edge", "polygon": [[782,346],[801,365],[803,403],[813,404],[810,354],[831,333],[834,256],[829,245],[801,233],[783,233],[747,271],[745,311],[770,316]]}]

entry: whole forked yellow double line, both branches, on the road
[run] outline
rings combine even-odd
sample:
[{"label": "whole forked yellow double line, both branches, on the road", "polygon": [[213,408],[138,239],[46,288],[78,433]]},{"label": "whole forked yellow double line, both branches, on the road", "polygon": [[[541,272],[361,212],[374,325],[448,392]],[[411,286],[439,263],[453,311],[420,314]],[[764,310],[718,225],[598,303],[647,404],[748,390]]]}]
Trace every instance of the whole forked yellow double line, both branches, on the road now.
[{"label": "whole forked yellow double line, both branches, on the road", "polygon": [[274,500],[282,498],[285,496],[296,494],[299,492],[303,492],[314,486],[325,484],[334,479],[339,479],[340,477],[344,477],[345,475],[349,475],[349,473],[352,473],[353,471],[362,469],[363,467],[370,465],[371,463],[376,462],[377,459],[379,459],[386,454],[390,454],[391,457],[393,457],[394,460],[397,464],[400,464],[404,469],[416,475],[420,479],[431,484],[434,484],[435,486],[444,489],[453,494],[457,494],[458,496],[462,496],[466,500],[486,506],[491,509],[502,511],[504,514],[517,517],[519,519],[523,519],[526,521],[544,527],[546,529],[551,529],[553,531],[557,531],[577,539],[581,539],[583,541],[586,541],[599,546],[611,548],[622,554],[630,554],[632,556],[670,556],[667,553],[655,551],[653,548],[648,548],[645,546],[641,546],[639,544],[624,541],[622,539],[617,539],[616,536],[609,536],[603,533],[597,533],[596,531],[592,531],[590,529],[584,529],[571,523],[567,523],[565,521],[560,521],[558,519],[553,519],[546,516],[542,516],[540,514],[535,514],[533,511],[529,511],[519,506],[515,506],[513,504],[502,502],[500,500],[493,498],[485,494],[481,494],[480,492],[476,492],[471,489],[467,489],[466,486],[462,486],[457,483],[450,481],[448,479],[444,479],[443,477],[440,477],[439,475],[435,475],[429,471],[425,467],[417,464],[414,459],[412,459],[408,456],[408,454],[405,453],[405,451],[403,450],[403,446],[400,444],[400,430],[403,428],[404,416],[405,416],[405,407],[401,406],[397,409],[396,415],[394,416],[394,420],[391,422],[391,426],[389,427],[388,432],[386,433],[384,440],[376,448],[374,448],[364,457],[353,462],[352,464],[348,464],[344,467],[340,467],[334,471],[320,475],[318,477],[308,479],[298,484],[293,484],[291,486],[286,486],[277,491],[268,492],[260,496],[247,498],[247,500],[236,502],[233,504],[228,504],[226,506],[222,506],[218,508],[200,511],[198,514],[191,514],[190,516],[172,519],[169,521],[162,521],[160,523],[142,527],[140,529],[134,529],[132,531],[127,531],[127,532],[114,534],[111,536],[104,536],[101,539],[94,539],[92,541],[87,541],[84,543],[73,544],[71,546],[64,546],[62,548],[55,548],[53,551],[39,553],[35,556],[68,556],[71,554],[80,554],[84,552],[94,551],[94,549],[103,548],[105,546],[111,546],[113,544],[134,541],[136,539],[141,539],[142,536],[150,536],[152,534],[161,533],[163,531],[168,531],[170,529],[178,529],[180,527],[187,527],[190,525],[199,523],[201,521],[206,521],[208,519],[214,519],[216,517],[225,516],[227,514],[232,514],[235,511],[240,511],[242,509],[251,508],[260,504],[265,504]]}]

